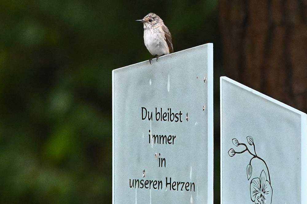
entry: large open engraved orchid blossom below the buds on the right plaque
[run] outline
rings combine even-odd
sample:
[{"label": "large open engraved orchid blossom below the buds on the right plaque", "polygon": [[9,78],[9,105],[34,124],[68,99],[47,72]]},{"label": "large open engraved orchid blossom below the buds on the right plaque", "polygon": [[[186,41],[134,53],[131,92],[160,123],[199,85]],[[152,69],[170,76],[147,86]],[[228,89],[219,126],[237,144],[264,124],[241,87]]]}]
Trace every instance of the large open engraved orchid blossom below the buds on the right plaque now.
[{"label": "large open engraved orchid blossom below the buds on the right plaque", "polygon": [[272,186],[262,170],[259,178],[251,180],[251,200],[255,204],[270,204],[272,202]]}]

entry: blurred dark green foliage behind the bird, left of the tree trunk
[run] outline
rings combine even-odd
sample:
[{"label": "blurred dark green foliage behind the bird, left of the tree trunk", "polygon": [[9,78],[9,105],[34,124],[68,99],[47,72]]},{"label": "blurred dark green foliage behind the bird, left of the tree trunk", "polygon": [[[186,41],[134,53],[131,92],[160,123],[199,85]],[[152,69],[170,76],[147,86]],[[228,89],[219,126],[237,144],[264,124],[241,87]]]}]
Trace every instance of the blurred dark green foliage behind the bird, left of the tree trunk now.
[{"label": "blurred dark green foliage behind the bird, left of the tree trunk", "polygon": [[150,12],[220,72],[217,0],[0,1],[0,203],[111,203],[111,70],[151,57]]}]

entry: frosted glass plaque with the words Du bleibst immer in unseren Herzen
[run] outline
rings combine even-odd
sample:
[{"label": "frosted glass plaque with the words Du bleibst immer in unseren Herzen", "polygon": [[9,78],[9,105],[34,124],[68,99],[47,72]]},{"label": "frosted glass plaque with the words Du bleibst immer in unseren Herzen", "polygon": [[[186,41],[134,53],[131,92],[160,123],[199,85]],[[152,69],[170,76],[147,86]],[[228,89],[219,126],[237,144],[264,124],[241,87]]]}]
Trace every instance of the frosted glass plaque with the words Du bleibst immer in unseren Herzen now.
[{"label": "frosted glass plaque with the words Du bleibst immer in unseren Herzen", "polygon": [[113,204],[213,203],[213,44],[112,71]]}]

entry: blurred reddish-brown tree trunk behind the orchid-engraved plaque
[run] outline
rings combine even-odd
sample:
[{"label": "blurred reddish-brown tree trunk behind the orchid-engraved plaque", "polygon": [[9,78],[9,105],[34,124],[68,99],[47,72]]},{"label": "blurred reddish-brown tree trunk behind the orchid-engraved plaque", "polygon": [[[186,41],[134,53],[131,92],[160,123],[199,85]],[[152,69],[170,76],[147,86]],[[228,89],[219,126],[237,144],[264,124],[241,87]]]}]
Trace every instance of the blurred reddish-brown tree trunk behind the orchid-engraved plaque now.
[{"label": "blurred reddish-brown tree trunk behind the orchid-engraved plaque", "polygon": [[227,75],[307,112],[307,0],[219,0]]}]

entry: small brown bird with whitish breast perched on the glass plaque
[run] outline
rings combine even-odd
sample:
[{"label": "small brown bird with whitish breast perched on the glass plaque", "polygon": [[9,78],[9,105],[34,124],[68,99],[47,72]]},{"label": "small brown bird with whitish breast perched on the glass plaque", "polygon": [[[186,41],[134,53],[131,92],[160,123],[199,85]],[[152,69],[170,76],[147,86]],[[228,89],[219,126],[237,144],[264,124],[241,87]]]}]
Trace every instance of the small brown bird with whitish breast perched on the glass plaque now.
[{"label": "small brown bird with whitish breast perched on the glass plaque", "polygon": [[149,13],[143,19],[136,20],[140,21],[144,25],[144,43],[147,50],[154,58],[158,58],[173,53],[172,35],[169,29],[164,25],[162,19],[154,14]]}]

